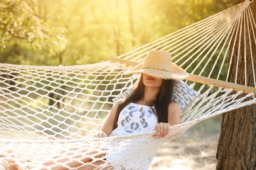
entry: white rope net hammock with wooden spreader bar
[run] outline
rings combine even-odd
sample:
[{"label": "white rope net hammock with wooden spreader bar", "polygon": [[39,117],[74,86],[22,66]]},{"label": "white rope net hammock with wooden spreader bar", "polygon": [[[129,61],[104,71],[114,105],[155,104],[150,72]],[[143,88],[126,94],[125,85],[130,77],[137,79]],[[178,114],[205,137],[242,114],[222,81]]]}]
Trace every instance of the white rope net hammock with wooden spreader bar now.
[{"label": "white rope net hammock with wooden spreader bar", "polygon": [[[59,157],[77,160],[81,166],[98,160],[106,162],[95,169],[112,169],[109,165],[146,169],[162,143],[176,139],[202,120],[255,104],[256,24],[250,3],[246,0],[112,61],[58,67],[1,63],[0,169],[7,167],[10,159],[24,169],[51,169]],[[171,127],[167,137],[161,139],[152,137],[154,131],[93,139],[104,124],[113,99],[139,78],[123,72],[144,61],[152,49],[170,52],[173,61],[190,73],[186,84],[201,94],[182,111],[182,124]],[[241,56],[244,65],[238,63]],[[236,81],[227,82],[234,65]],[[245,81],[237,84],[241,68],[245,70]],[[249,71],[254,82],[251,87],[246,78]],[[190,98],[189,91],[182,94],[185,100]],[[106,149],[110,155],[116,155],[115,160],[106,161],[106,156],[95,158]],[[92,161],[83,163],[82,158]],[[44,165],[49,161],[54,165]],[[72,169],[67,162],[59,165]]]}]

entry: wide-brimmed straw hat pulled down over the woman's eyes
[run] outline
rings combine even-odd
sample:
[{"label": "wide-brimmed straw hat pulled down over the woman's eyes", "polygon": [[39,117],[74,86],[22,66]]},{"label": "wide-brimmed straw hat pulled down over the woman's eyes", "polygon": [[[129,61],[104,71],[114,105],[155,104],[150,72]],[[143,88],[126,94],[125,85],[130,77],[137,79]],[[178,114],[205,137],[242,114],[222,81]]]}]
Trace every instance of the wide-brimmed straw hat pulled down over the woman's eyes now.
[{"label": "wide-brimmed straw hat pulled down over the woman's eyes", "polygon": [[144,63],[140,63],[125,74],[145,73],[156,78],[181,80],[188,73],[171,61],[171,54],[163,50],[150,50]]}]

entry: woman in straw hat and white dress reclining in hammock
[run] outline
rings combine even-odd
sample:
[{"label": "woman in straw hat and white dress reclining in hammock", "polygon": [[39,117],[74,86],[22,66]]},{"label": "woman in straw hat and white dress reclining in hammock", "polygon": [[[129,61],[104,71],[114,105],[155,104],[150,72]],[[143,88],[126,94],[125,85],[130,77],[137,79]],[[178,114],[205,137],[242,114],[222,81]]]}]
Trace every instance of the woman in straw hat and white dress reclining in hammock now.
[{"label": "woman in straw hat and white dress reclining in hammock", "polygon": [[[102,126],[101,132],[95,137],[131,135],[154,130],[156,130],[155,135],[165,137],[170,126],[181,124],[180,107],[172,100],[173,80],[187,78],[188,74],[181,67],[172,63],[169,52],[163,50],[151,50],[144,63],[128,73],[142,73],[137,88],[127,99],[117,101]],[[108,150],[106,153],[98,154],[97,158],[106,156],[106,160],[90,163],[91,165],[81,167],[78,162],[66,163],[66,165],[79,166],[80,169],[95,169],[95,166],[110,161],[111,166],[106,169],[120,169],[114,163],[115,155],[108,156],[108,154]],[[79,158],[78,154],[76,158]],[[58,160],[63,163],[65,161],[67,160],[64,158]],[[88,162],[90,159],[83,161]],[[45,165],[52,164],[45,163]],[[145,169],[148,168],[145,167]],[[10,169],[16,169],[16,167],[11,166]],[[63,167],[54,167],[53,169],[63,169]]]}]

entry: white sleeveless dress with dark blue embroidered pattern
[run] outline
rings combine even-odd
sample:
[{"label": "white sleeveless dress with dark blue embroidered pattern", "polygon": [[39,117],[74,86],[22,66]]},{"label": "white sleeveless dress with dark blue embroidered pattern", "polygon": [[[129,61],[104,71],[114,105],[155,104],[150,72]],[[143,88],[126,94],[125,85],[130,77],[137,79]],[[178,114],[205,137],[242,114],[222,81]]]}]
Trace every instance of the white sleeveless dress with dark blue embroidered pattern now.
[{"label": "white sleeveless dress with dark blue embroidered pattern", "polygon": [[[151,107],[130,103],[123,110],[121,110],[117,121],[117,127],[112,131],[110,137],[135,135],[138,133],[154,131],[156,124],[158,124],[158,118],[154,114]],[[119,148],[120,145],[117,143],[114,147]],[[136,150],[137,147],[139,148],[139,146],[133,146],[133,149]],[[118,154],[114,154],[116,152]],[[122,146],[121,152],[118,151],[118,149],[108,149],[106,153],[106,160],[110,161],[115,169],[131,169],[131,167],[129,167],[131,163],[129,163],[127,160],[127,158],[131,157],[131,155],[129,155],[127,152],[128,151],[125,150],[125,146]],[[150,158],[148,158],[148,160],[150,160]],[[144,167],[143,169],[149,169],[149,166]]]}]

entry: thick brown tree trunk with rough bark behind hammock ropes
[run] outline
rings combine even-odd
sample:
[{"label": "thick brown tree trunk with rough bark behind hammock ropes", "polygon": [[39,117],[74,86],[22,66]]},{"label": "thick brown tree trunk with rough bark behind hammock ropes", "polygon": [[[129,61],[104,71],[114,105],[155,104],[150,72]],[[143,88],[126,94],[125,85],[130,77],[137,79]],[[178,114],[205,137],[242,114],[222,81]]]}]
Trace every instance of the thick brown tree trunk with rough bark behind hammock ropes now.
[{"label": "thick brown tree trunk with rough bark behind hammock ropes", "polygon": [[[244,2],[244,0],[237,0],[237,3],[242,2]],[[254,18],[256,18],[256,2],[251,3],[250,7],[251,11],[253,12]],[[247,29],[247,27],[245,28]],[[251,35],[251,39],[254,39],[253,35]],[[249,44],[249,40],[247,39],[246,41]],[[245,50],[247,51],[247,54],[249,54],[249,46],[243,44],[244,40],[242,40],[241,42],[241,49],[246,47]],[[236,48],[238,48],[238,46],[236,46]],[[255,62],[255,43],[253,43],[252,49],[253,59]],[[240,56],[239,58],[239,63],[245,63],[243,56],[244,53],[241,52],[240,55],[242,56]],[[236,56],[234,56],[234,58],[236,58]],[[250,59],[246,60],[246,73],[248,82],[247,86],[254,87],[251,62],[252,61]],[[234,69],[232,69],[232,67],[234,67]],[[236,78],[236,65],[234,64],[234,60],[232,67],[230,77],[228,78],[230,82],[234,82]],[[237,78],[238,84],[244,84],[244,72],[244,67],[239,68]],[[216,169],[256,169],[256,105],[250,105],[223,114],[223,120],[221,124],[221,135],[219,138],[219,145],[217,148],[217,160],[218,162]]]}]

